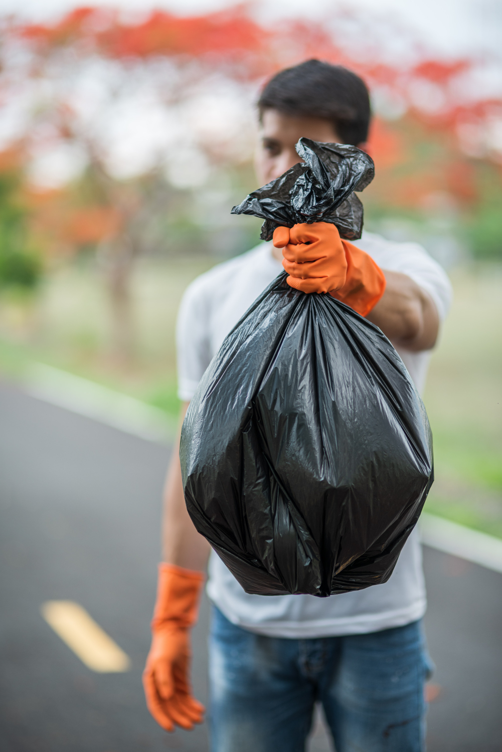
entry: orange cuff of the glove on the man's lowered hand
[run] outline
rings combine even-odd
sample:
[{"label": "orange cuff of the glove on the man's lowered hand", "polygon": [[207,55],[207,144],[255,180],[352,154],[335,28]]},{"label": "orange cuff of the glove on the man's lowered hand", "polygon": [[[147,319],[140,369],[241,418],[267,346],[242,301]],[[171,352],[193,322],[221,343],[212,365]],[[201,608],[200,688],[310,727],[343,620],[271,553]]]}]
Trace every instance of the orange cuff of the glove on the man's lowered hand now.
[{"label": "orange cuff of the glove on the man's lowered hand", "polygon": [[166,623],[187,629],[196,623],[205,576],[175,564],[159,564],[152,632]]}]

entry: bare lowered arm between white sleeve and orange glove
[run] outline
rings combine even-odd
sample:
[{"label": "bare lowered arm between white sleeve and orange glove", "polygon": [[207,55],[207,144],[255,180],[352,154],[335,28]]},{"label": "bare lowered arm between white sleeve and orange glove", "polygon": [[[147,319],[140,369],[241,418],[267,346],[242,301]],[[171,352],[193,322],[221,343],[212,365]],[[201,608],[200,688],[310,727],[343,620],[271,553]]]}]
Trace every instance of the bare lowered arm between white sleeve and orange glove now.
[{"label": "bare lowered arm between white sleeve and orange glove", "polygon": [[[181,410],[181,423],[187,411],[188,403]],[[179,446],[179,433],[175,447]],[[176,564],[185,569],[204,571],[209,552],[208,541],[193,526],[184,501],[183,482],[179,453],[173,452],[164,487],[163,513],[163,559],[169,564]]]}]

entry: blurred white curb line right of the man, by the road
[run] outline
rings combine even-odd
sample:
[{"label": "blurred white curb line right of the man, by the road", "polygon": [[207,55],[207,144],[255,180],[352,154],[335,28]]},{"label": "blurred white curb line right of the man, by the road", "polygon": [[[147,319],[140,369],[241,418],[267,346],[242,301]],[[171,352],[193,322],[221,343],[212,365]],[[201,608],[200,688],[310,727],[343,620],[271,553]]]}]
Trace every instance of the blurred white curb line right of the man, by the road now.
[{"label": "blurred white curb line right of the man, by the road", "polygon": [[461,559],[502,572],[502,541],[484,532],[443,520],[435,514],[422,513],[418,526],[426,546],[452,553]]}]

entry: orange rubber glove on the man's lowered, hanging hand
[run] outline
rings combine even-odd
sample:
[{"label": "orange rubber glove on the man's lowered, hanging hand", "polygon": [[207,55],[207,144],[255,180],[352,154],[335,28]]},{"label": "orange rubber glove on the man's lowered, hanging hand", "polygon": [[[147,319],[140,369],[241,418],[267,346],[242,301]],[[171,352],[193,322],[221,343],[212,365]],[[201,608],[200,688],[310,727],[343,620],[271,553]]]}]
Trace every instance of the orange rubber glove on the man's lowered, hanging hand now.
[{"label": "orange rubber glove on the man's lowered, hanging hand", "polygon": [[197,620],[204,575],[173,564],[159,565],[157,602],[151,623],[152,642],[143,687],[148,710],[157,723],[193,729],[205,711],[190,689],[190,633]]}]

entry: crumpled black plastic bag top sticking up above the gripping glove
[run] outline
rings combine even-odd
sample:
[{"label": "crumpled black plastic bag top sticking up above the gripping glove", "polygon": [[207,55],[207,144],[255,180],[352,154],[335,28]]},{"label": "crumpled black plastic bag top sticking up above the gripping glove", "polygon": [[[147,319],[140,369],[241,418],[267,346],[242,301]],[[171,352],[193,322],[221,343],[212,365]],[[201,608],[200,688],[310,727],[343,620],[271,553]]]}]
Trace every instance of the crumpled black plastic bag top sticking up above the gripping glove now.
[{"label": "crumpled black plastic bag top sticking up above the gripping glove", "polygon": [[363,205],[353,192],[373,180],[373,159],[349,144],[323,144],[310,138],[300,138],[296,149],[304,162],[250,193],[232,214],[262,217],[263,240],[270,240],[280,225],[303,222],[329,222],[341,238],[361,238]]}]

